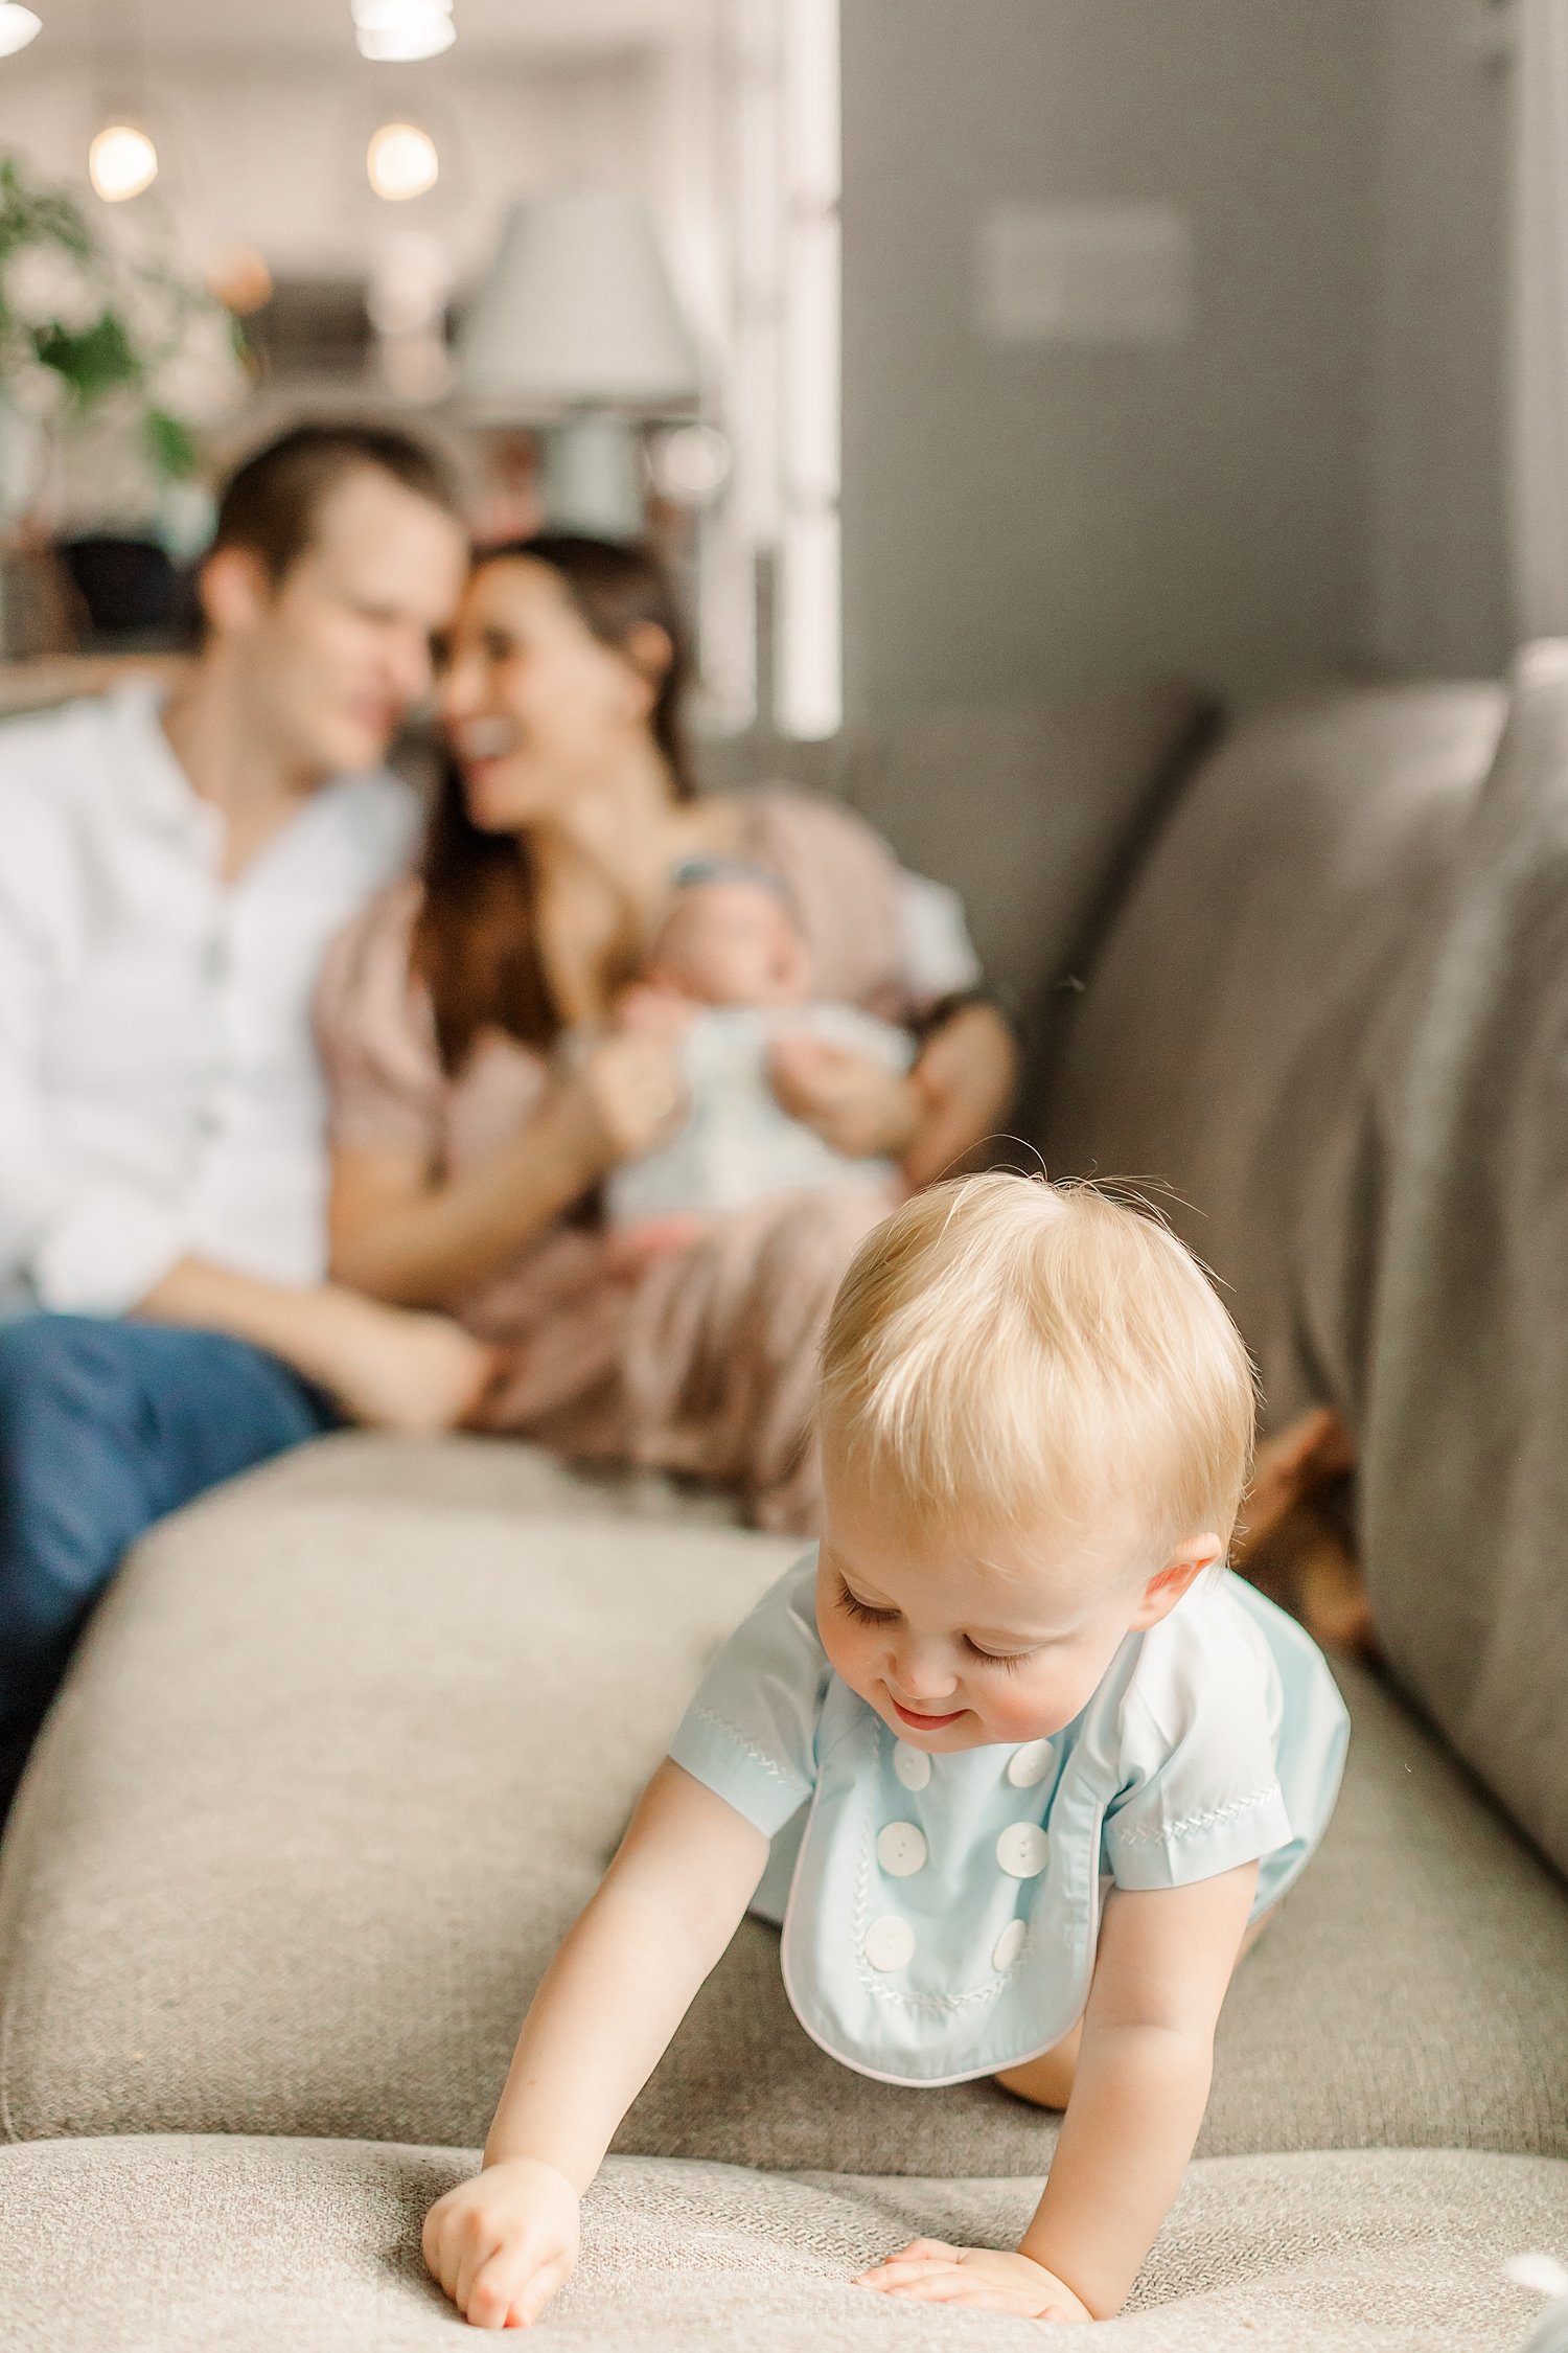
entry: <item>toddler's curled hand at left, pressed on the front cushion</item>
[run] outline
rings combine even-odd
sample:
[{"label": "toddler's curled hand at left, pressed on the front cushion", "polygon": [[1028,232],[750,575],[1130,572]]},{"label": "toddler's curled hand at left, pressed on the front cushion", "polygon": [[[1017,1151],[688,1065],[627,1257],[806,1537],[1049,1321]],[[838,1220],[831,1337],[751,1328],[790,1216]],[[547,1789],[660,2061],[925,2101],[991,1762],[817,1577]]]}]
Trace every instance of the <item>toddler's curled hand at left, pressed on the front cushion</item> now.
[{"label": "toddler's curled hand at left, pressed on the front cushion", "polygon": [[527,2329],[578,2254],[578,2193],[538,2158],[487,2165],[425,2214],[425,2264],[477,2329]]}]

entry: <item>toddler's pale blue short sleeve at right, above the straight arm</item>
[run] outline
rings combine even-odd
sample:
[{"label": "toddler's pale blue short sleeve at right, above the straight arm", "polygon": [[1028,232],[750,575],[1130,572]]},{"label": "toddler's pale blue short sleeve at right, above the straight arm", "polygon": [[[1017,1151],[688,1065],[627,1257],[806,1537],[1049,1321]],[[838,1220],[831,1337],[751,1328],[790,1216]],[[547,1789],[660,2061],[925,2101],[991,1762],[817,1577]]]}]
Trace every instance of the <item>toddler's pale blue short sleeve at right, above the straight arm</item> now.
[{"label": "toddler's pale blue short sleeve at right, above the straight arm", "polygon": [[1128,1689],[1124,1777],[1105,1812],[1117,1887],[1190,1887],[1291,1842],[1274,1715],[1272,1673],[1246,1645],[1201,1675]]}]

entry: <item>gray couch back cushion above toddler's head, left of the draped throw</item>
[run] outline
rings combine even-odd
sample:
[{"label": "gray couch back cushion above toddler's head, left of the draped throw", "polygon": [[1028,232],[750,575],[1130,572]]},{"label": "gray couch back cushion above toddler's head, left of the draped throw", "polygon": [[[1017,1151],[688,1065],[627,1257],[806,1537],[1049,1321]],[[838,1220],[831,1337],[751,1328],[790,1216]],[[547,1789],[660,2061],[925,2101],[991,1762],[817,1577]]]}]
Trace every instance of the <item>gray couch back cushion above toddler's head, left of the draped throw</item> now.
[{"label": "gray couch back cushion above toddler's head, left of the draped throw", "polygon": [[1505,711],[1497,685],[1361,687],[1239,725],[1117,913],[1025,1129],[1056,1176],[1171,1188],[1276,1419],[1319,1398],[1356,1419],[1363,1111]]}]

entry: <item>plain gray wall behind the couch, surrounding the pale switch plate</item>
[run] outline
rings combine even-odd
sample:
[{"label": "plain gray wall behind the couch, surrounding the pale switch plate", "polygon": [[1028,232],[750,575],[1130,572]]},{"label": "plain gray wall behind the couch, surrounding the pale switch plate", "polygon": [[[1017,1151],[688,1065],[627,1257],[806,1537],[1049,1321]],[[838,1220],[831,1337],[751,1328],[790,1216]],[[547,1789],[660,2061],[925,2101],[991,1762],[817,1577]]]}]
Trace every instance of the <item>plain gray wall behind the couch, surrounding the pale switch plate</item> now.
[{"label": "plain gray wall behind the couch, surrounding the pale switch plate", "polygon": [[[1505,75],[1472,0],[844,0],[851,718],[1490,668]],[[1197,336],[999,348],[1006,200],[1159,198]]]}]

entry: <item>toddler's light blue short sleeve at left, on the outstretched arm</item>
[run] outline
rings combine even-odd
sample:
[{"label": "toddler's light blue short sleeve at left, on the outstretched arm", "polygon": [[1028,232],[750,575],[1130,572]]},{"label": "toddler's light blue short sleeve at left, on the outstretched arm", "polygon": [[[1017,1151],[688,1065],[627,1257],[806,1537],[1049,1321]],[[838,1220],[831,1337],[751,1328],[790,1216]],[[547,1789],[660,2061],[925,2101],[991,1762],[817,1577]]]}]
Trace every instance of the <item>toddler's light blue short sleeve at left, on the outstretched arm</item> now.
[{"label": "toddler's light blue short sleeve at left, on the outstretched arm", "polygon": [[827,1692],[816,1553],[771,1586],[703,1675],[670,1755],[773,1838],[816,1788]]}]

